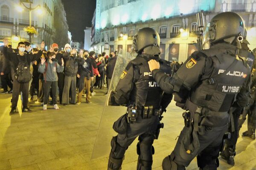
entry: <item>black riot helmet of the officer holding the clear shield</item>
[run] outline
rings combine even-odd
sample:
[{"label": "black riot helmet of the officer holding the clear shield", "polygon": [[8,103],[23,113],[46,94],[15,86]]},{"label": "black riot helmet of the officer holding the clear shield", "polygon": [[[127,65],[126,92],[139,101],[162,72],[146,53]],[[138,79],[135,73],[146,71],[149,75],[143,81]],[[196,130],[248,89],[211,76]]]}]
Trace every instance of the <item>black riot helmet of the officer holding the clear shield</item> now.
[{"label": "black riot helmet of the officer holding the clear shield", "polygon": [[143,51],[151,55],[160,54],[160,37],[153,28],[142,28],[134,36],[134,51],[141,54]]}]

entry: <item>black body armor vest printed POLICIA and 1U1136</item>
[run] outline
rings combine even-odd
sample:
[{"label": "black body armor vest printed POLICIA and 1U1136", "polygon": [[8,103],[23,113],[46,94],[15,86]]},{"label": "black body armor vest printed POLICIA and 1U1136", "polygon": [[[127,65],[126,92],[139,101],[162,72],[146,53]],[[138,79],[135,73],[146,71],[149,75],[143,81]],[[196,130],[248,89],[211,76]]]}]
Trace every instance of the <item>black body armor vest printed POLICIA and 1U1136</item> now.
[{"label": "black body armor vest printed POLICIA and 1U1136", "polygon": [[234,54],[221,53],[218,49],[202,51],[211,57],[213,72],[209,79],[192,88],[189,100],[211,111],[226,112],[230,109],[247,76],[250,76],[247,62]]}]

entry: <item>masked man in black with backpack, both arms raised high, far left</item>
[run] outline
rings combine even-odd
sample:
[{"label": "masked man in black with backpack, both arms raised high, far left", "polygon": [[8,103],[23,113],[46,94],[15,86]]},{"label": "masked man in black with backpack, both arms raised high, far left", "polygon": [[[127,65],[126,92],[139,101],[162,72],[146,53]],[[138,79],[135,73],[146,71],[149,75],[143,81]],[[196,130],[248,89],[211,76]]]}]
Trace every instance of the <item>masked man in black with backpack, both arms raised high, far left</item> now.
[{"label": "masked man in black with backpack, both arms raised high, far left", "polygon": [[36,59],[39,59],[41,57],[42,51],[44,49],[44,42],[41,43],[41,50],[38,52],[38,54],[24,53],[25,51],[24,42],[18,43],[18,48],[19,48],[18,53],[11,53],[7,51],[7,45],[8,45],[7,39],[5,39],[3,43],[4,43],[3,54],[5,58],[12,63],[14,70],[16,70],[15,79],[13,81],[12,109],[10,111],[10,114],[16,113],[16,107],[17,107],[20,91],[22,92],[22,95],[23,95],[22,112],[32,112],[28,108],[29,81],[32,77],[30,74],[29,66],[30,66],[30,62],[35,61]]}]

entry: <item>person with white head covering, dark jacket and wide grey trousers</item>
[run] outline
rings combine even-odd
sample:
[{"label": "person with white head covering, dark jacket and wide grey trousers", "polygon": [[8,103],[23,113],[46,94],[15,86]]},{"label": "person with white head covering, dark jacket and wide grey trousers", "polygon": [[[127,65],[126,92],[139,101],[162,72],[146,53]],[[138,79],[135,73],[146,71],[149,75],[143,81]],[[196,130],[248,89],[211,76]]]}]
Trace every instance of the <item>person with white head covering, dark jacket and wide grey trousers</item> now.
[{"label": "person with white head covering, dark jacket and wide grey trousers", "polygon": [[[70,53],[71,46],[65,45],[66,53],[63,54],[65,61],[64,69],[64,89],[62,94],[62,104],[67,105],[69,103],[76,104],[76,74],[78,71],[78,61],[76,57],[76,49],[74,48]],[[71,94],[71,101],[70,99]]]}]

